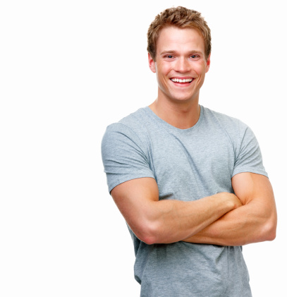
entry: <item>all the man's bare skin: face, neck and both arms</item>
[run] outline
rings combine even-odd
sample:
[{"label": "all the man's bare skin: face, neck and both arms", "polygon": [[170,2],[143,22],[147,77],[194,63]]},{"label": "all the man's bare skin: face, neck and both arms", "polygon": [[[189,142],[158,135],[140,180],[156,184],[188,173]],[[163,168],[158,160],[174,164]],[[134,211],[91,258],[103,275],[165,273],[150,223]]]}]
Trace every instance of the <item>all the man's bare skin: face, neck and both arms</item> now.
[{"label": "all the man's bare skin: face, neck and both arms", "polygon": [[[158,81],[158,97],[149,108],[172,126],[194,126],[200,116],[200,87],[210,66],[202,36],[194,29],[163,28],[156,59],[148,59]],[[181,84],[174,78],[193,81]],[[218,193],[189,202],[159,200],[156,181],[137,178],[116,186],[111,195],[135,235],[147,244],[187,241],[241,246],[273,240],[276,206],[269,179],[240,173],[233,176],[232,186],[236,195]]]}]

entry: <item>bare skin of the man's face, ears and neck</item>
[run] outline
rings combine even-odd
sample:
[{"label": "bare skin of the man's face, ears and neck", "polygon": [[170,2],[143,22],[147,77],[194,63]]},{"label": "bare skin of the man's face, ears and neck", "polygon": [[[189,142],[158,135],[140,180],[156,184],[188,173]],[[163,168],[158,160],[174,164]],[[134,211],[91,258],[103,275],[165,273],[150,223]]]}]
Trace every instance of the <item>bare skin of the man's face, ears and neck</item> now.
[{"label": "bare skin of the man's face, ears and neck", "polygon": [[[172,126],[194,126],[200,117],[200,87],[210,66],[210,56],[204,56],[202,36],[195,29],[163,28],[157,40],[156,61],[150,55],[148,59],[159,85],[158,97],[149,108]],[[193,81],[173,83],[171,78]]]}]

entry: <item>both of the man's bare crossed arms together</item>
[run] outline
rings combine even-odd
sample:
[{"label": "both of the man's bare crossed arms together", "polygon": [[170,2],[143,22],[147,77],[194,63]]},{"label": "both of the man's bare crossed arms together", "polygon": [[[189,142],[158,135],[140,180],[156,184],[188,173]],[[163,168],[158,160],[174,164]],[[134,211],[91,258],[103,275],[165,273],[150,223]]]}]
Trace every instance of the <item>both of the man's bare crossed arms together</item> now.
[{"label": "both of the man's bare crossed arms together", "polygon": [[126,181],[111,195],[135,235],[147,244],[209,243],[241,246],[273,240],[276,206],[269,179],[241,173],[232,178],[236,195],[218,193],[195,201],[159,200],[153,178]]}]

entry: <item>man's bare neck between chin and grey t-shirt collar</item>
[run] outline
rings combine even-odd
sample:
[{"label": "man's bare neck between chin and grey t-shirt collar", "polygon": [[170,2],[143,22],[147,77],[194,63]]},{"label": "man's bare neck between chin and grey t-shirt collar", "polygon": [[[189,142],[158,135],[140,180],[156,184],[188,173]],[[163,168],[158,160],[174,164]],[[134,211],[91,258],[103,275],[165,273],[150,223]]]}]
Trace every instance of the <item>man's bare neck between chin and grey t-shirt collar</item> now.
[{"label": "man's bare neck between chin and grey t-shirt collar", "polygon": [[188,129],[200,119],[200,105],[198,99],[193,102],[161,102],[158,98],[149,105],[154,114],[180,129]]}]

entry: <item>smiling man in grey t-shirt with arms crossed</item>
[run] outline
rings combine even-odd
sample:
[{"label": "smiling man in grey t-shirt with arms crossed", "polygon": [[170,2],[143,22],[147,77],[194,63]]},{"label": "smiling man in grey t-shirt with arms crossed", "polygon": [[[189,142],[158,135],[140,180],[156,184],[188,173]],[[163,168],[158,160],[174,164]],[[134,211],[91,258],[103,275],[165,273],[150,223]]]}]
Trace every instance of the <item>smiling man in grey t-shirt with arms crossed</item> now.
[{"label": "smiling man in grey t-shirt with arms crossed", "polygon": [[242,246],[276,236],[259,145],[244,123],[199,104],[211,52],[200,13],[166,9],[147,36],[158,97],[102,140],[141,296],[251,296]]}]

